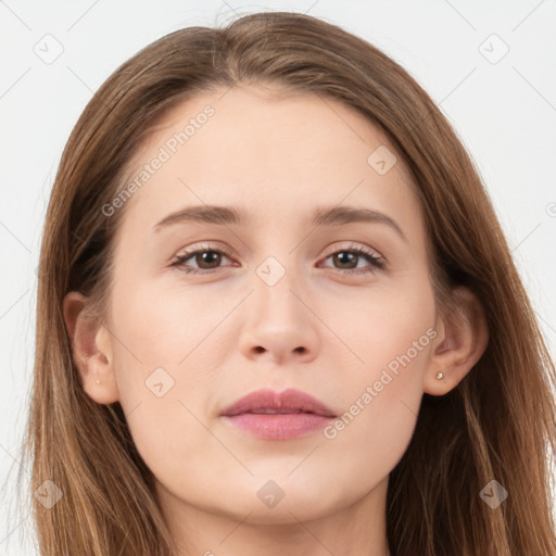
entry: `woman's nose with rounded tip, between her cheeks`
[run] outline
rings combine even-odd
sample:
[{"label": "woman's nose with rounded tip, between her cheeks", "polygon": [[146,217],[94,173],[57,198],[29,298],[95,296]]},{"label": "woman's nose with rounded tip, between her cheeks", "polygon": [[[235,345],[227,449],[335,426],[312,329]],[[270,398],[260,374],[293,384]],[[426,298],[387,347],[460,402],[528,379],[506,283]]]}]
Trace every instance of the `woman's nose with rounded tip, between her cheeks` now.
[{"label": "woman's nose with rounded tip, between her cheeks", "polygon": [[289,273],[274,286],[255,277],[240,350],[252,361],[276,364],[307,363],[316,357],[318,318],[311,300],[290,280]]}]

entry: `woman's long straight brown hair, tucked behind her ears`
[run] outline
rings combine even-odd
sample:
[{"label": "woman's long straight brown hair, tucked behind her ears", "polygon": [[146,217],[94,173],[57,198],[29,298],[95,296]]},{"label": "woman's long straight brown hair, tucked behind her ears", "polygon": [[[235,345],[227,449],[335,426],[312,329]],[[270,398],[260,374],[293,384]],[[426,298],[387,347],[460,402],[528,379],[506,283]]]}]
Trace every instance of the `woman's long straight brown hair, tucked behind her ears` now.
[{"label": "woman's long straight brown hair, tucked behind her ears", "polygon": [[[64,150],[43,228],[27,457],[42,555],[172,554],[118,403],[84,392],[62,313],[80,291],[102,317],[125,206],[102,211],[162,115],[187,98],[240,83],[275,83],[337,99],[382,129],[410,169],[428,230],[435,300],[448,312],[463,285],[481,301],[489,344],[443,396],[424,395],[413,440],[390,473],[392,556],[556,556],[551,468],[555,368],[491,200],[469,155],[428,94],[368,42],[312,16],[264,13],[225,28],[172,33],[118,67],[79,117]],[[491,508],[496,480],[508,497]]]}]

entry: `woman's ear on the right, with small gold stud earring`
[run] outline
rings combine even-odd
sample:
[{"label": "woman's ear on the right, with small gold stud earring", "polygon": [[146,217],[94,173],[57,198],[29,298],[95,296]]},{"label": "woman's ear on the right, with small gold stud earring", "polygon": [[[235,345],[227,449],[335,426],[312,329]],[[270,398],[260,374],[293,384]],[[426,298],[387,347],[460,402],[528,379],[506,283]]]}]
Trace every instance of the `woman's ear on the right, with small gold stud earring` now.
[{"label": "woman's ear on the right, with small gold stud earring", "polygon": [[[468,288],[455,288],[453,313],[440,319],[437,330],[424,391],[443,395],[466,377],[489,343],[486,318],[477,295]],[[437,378],[439,372],[441,379]]]}]

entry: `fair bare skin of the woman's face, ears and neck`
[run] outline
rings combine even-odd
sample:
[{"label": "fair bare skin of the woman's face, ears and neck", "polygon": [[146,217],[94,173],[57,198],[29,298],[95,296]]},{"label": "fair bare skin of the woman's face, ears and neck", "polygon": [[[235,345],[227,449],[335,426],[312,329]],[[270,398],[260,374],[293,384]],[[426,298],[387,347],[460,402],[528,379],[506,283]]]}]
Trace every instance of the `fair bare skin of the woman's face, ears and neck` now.
[{"label": "fair bare skin of the woman's face, ears and neck", "polygon": [[[100,404],[122,404],[179,554],[388,555],[389,473],[409,443],[424,392],[445,394],[482,355],[482,308],[462,288],[462,323],[438,312],[421,207],[377,127],[308,92],[269,85],[225,92],[177,108],[137,154],[140,169],[189,118],[214,108],[127,201],[106,321],[87,325],[79,293],[64,300],[76,359],[86,359],[84,389]],[[397,157],[384,175],[367,162],[380,146]],[[153,231],[168,214],[199,204],[235,206],[252,222]],[[337,205],[389,215],[407,241],[384,224],[307,223],[317,206]],[[215,271],[169,266],[186,248],[206,243],[231,256],[204,267],[193,256],[185,265]],[[388,269],[345,274],[351,266],[331,255],[352,244]],[[268,256],[286,269],[274,286],[256,273]],[[354,257],[358,270],[369,267]],[[333,439],[317,430],[260,440],[219,417],[263,387],[298,388],[342,415],[428,329],[435,338]],[[146,387],[159,367],[174,380],[162,397]],[[257,496],[268,480],[283,491],[274,507]]]}]

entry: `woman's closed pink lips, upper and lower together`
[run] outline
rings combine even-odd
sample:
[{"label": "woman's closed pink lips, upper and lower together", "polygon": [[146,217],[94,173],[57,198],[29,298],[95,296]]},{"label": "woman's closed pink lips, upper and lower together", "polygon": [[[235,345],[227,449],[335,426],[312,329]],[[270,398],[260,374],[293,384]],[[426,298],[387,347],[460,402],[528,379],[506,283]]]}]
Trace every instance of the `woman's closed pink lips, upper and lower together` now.
[{"label": "woman's closed pink lips, upper and lower together", "polygon": [[[257,413],[264,409],[276,414]],[[226,420],[241,430],[267,440],[287,440],[323,428],[333,412],[301,390],[263,389],[251,392],[224,409]]]}]

